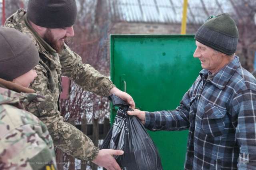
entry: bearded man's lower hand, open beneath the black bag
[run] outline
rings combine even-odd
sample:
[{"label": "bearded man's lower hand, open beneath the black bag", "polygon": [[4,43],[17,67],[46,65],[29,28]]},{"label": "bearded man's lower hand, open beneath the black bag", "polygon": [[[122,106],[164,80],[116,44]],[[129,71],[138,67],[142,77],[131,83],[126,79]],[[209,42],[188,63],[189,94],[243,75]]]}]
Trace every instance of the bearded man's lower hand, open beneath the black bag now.
[{"label": "bearded man's lower hand, open beneath the black bag", "polygon": [[102,149],[99,150],[98,156],[92,161],[98,166],[102,166],[107,170],[121,170],[120,166],[116,162],[112,155],[122,155],[124,151],[114,149]]}]

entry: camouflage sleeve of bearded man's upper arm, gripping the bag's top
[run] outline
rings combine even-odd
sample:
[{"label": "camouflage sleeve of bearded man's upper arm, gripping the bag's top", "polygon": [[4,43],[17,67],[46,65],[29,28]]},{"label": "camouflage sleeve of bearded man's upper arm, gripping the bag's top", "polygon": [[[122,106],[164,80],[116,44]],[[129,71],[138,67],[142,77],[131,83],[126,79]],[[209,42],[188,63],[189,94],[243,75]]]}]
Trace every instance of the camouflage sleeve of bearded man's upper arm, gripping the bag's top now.
[{"label": "camouflage sleeve of bearded man's upper arm, gripping the bag's top", "polygon": [[108,77],[100,74],[91,65],[82,63],[81,57],[67,45],[60,54],[60,63],[62,75],[70,77],[85,90],[107,97],[115,87]]}]

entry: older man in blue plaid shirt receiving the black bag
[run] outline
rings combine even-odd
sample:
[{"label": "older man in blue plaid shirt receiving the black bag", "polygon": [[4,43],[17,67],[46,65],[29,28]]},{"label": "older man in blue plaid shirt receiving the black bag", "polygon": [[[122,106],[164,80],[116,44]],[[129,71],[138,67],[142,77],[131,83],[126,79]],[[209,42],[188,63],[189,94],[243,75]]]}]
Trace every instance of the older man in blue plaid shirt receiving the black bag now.
[{"label": "older man in blue plaid shirt receiving the black bag", "polygon": [[128,112],[150,130],[189,129],[185,169],[256,169],[256,80],[234,55],[238,29],[227,14],[196,32],[202,71],[173,111]]}]

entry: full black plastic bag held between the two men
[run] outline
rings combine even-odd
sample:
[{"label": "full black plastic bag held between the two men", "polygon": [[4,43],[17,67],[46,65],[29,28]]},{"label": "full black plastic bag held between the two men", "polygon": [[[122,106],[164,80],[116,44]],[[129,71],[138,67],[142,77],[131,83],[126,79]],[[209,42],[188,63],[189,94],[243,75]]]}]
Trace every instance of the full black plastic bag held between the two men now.
[{"label": "full black plastic bag held between the two men", "polygon": [[101,148],[124,151],[115,156],[122,170],[162,170],[160,156],[145,127],[137,117],[127,114],[132,111],[129,104],[115,95],[110,99],[119,109]]}]

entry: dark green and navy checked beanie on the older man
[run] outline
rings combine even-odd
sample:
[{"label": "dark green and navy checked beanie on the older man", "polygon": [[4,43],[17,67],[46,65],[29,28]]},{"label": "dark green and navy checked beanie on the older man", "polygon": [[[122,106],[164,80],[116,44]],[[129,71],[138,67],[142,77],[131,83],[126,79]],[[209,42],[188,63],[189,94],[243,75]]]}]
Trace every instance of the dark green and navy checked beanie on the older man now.
[{"label": "dark green and navy checked beanie on the older man", "polygon": [[238,29],[228,13],[206,21],[196,32],[195,39],[227,55],[236,52]]}]

